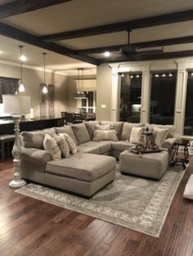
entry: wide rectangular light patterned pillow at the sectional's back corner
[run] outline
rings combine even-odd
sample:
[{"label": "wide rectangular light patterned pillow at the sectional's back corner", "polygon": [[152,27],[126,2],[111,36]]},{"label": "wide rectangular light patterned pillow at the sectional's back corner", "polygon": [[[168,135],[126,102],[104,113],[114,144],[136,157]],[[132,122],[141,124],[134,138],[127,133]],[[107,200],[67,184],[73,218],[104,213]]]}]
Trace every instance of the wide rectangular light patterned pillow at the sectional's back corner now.
[{"label": "wide rectangular light patterned pillow at the sectional's back corner", "polygon": [[93,141],[118,141],[117,132],[115,130],[94,132]]}]

